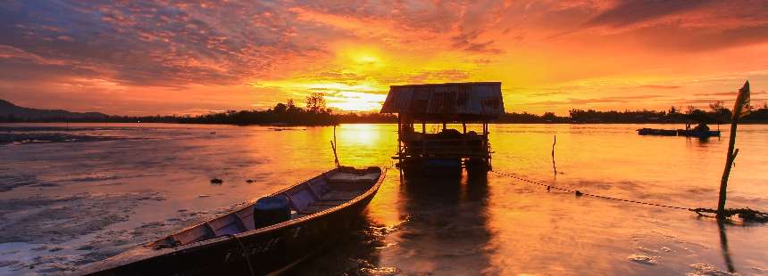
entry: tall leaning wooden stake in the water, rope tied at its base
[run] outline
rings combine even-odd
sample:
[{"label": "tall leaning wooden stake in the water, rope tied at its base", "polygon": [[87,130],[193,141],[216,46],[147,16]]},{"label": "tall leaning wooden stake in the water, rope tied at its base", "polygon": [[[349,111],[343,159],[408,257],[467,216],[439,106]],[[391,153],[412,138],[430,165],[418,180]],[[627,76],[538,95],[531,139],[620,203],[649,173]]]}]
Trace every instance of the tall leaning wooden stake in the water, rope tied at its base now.
[{"label": "tall leaning wooden stake in the water, rope tied at its base", "polygon": [[736,97],[736,103],[733,106],[733,117],[730,120],[728,153],[725,157],[725,169],[722,171],[722,178],[720,180],[720,197],[717,200],[718,218],[725,217],[725,192],[728,187],[728,176],[730,175],[730,167],[733,166],[733,160],[739,154],[739,149],[734,150],[736,145],[736,127],[739,125],[739,118],[747,114],[749,114],[749,81],[739,89],[739,95]]}]

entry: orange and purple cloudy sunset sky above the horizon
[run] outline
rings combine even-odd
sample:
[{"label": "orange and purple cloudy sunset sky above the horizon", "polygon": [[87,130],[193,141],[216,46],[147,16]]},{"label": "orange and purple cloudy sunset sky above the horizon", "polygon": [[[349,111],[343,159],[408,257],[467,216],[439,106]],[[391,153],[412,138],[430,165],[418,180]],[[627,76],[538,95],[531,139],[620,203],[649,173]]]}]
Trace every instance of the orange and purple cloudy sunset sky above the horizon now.
[{"label": "orange and purple cloudy sunset sky above the horizon", "polygon": [[501,81],[507,111],[768,99],[768,1],[2,1],[0,99],[119,115],[263,110]]}]

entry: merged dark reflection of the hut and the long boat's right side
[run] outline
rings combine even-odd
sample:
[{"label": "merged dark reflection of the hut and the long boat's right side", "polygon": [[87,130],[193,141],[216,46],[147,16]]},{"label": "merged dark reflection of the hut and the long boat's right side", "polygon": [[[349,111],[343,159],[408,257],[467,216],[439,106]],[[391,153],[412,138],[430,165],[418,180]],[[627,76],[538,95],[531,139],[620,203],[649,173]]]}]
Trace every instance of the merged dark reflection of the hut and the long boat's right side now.
[{"label": "merged dark reflection of the hut and the long boat's right side", "polygon": [[[398,172],[388,177],[397,179]],[[488,241],[488,176],[435,181],[401,177],[394,198],[405,223],[383,225],[364,215],[354,231],[298,265],[296,275],[474,274],[491,267]],[[370,210],[369,210],[370,211]],[[388,235],[395,236],[389,240]],[[394,241],[394,242],[391,242]],[[382,262],[383,248],[395,246]],[[461,262],[463,265],[456,265]],[[388,267],[386,264],[396,264]]]}]

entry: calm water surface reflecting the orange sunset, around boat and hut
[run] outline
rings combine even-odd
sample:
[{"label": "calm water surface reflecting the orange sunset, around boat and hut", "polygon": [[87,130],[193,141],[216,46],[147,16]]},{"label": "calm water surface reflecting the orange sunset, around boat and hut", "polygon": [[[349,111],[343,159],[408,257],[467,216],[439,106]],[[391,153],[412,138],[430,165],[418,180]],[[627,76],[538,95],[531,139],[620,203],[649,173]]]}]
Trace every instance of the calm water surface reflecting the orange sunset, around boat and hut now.
[{"label": "calm water surface reflecting the orange sunset, around boat and hut", "polygon": [[[333,166],[331,127],[9,128],[17,126],[0,134],[82,142],[0,146],[0,274],[68,271]],[[702,142],[639,136],[639,127],[491,126],[493,166],[563,188],[714,207],[727,134]],[[343,165],[391,164],[396,126],[336,132]],[[740,126],[737,147],[728,204],[768,210],[768,126]],[[766,248],[768,225],[720,227],[687,211],[577,198],[493,173],[427,181],[391,170],[358,230],[294,272],[760,275]]]}]

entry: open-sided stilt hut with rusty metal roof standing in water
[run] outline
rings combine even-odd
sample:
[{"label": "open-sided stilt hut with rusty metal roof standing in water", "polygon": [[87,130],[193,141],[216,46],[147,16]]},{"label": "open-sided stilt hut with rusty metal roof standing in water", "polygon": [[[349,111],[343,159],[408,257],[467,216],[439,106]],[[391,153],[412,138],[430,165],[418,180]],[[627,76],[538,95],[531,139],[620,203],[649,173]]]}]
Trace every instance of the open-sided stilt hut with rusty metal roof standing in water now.
[{"label": "open-sided stilt hut with rusty metal roof standing in water", "polygon": [[[393,158],[406,175],[445,174],[447,169],[460,175],[462,166],[486,173],[491,165],[488,122],[504,114],[501,83],[392,85],[381,113],[397,114]],[[459,124],[461,129],[449,127]],[[475,130],[467,131],[468,125]]]}]

